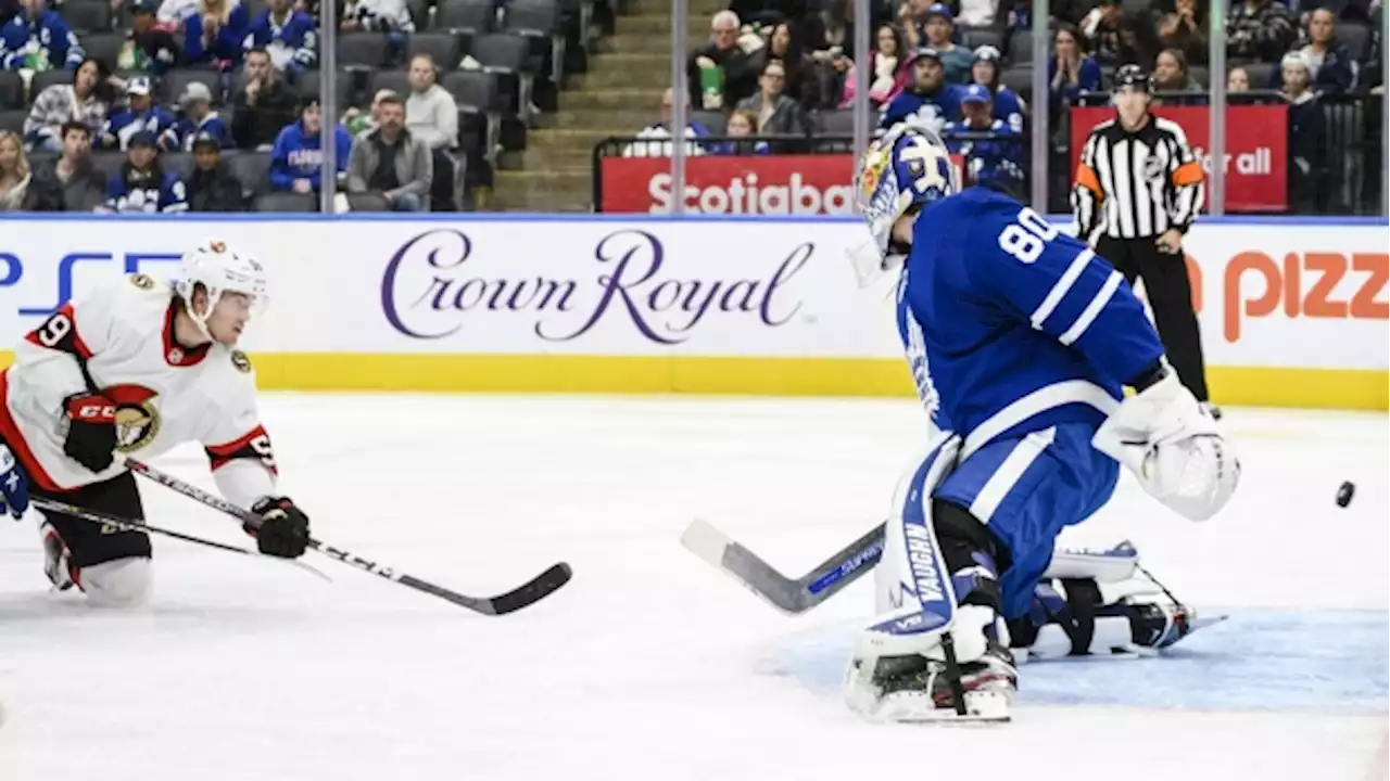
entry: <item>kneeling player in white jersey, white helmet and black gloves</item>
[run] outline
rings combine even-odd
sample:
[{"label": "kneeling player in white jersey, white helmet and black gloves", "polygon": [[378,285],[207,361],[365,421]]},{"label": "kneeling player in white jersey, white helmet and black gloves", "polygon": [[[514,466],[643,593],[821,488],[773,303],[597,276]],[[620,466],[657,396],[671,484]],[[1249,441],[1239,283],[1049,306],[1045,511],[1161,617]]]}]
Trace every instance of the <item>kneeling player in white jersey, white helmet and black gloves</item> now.
[{"label": "kneeling player in white jersey, white helmet and black gloves", "polygon": [[[122,456],[153,459],[199,442],[222,496],[261,517],[259,529],[247,528],[261,553],[302,556],[309,517],[275,491],[254,375],[235,349],[265,296],[256,258],[204,240],[183,256],[172,285],[132,274],[35,328],[0,374],[0,481],[11,481],[0,485],[8,485],[10,511],[22,516],[26,482],[35,496],[143,520]],[[76,585],[101,605],[147,598],[145,532],[43,511],[40,534],[56,588]]]}]

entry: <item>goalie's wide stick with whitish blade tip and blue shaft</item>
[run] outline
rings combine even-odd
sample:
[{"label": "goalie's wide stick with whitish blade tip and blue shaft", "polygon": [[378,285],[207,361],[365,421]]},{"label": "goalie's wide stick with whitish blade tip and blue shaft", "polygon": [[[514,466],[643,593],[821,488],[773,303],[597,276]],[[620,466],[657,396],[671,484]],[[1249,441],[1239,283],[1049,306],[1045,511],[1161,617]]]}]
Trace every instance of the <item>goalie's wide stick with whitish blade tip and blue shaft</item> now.
[{"label": "goalie's wide stick with whitish blade tip and blue shaft", "polygon": [[878,524],[859,539],[799,578],[778,573],[752,550],[705,521],[695,521],[681,535],[681,545],[744,584],[773,607],[798,614],[834,596],[840,589],[859,579],[883,557],[884,524]]}]

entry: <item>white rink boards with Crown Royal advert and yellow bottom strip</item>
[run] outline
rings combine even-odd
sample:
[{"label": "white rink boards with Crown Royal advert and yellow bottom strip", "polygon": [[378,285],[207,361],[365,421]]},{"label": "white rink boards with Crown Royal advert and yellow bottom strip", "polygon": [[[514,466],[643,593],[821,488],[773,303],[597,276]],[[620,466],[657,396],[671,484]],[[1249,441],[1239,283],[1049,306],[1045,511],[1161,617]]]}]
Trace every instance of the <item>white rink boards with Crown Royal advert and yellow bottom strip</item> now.
[{"label": "white rink boards with Crown Royal advert and yellow bottom strip", "polygon": [[[204,236],[270,271],[267,389],[912,392],[891,281],[824,218],[0,220],[0,343]],[[1390,225],[1208,220],[1187,252],[1216,400],[1390,410]]]}]

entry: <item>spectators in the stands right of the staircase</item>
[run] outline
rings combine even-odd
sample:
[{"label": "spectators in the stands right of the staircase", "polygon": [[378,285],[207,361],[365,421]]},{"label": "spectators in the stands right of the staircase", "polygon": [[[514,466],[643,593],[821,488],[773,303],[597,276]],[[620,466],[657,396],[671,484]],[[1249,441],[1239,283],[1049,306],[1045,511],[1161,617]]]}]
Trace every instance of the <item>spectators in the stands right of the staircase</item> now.
[{"label": "spectators in the stands right of the staircase", "polygon": [[[1109,89],[1120,65],[1151,72],[1159,103],[1205,100],[1205,0],[1055,0],[1042,99],[1033,96],[1030,0],[865,1],[873,1],[874,26],[867,97],[880,122],[913,117],[934,126],[967,156],[979,182],[1023,186],[1026,125],[1036,106],[1045,106],[1056,163],[1069,168],[1069,108],[1088,94],[1104,101],[1094,93]],[[1373,24],[1386,11],[1383,0],[1287,1],[1237,0],[1225,49],[1232,92],[1264,92],[1290,106],[1291,188],[1298,189],[1304,174],[1326,167],[1323,100],[1384,93],[1384,42]],[[758,154],[749,143],[699,140],[739,136],[749,126],[759,136],[849,132],[852,1],[733,0],[709,28],[709,42],[687,61],[688,154]],[[641,131],[624,154],[670,153],[670,142],[660,140],[670,138],[670,100],[662,121]],[[1361,128],[1368,147],[1379,139],[1372,121]]]}]

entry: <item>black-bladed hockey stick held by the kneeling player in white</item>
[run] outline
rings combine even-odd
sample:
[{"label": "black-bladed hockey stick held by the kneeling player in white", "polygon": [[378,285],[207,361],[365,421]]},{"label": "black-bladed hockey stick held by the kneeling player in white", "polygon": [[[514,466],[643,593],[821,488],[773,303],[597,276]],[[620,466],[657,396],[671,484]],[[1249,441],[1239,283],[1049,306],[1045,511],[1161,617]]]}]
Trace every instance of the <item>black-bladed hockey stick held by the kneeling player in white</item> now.
[{"label": "black-bladed hockey stick held by the kneeling player in white", "polygon": [[[178,493],[182,493],[183,496],[188,496],[189,499],[193,499],[195,502],[199,502],[220,513],[231,516],[243,524],[259,527],[261,523],[261,518],[253,514],[252,511],[238,507],[236,504],[232,504],[231,502],[227,502],[220,496],[214,496],[197,488],[196,485],[189,485],[178,479],[177,477],[167,475],[147,464],[142,464],[135,459],[125,459],[125,467],[143,478],[152,479],[160,485],[164,485],[165,488],[171,488]],[[562,561],[559,564],[553,564],[550,568],[541,573],[535,578],[531,578],[528,582],[506,593],[499,593],[496,596],[488,596],[488,598],[467,596],[455,591],[449,591],[443,586],[438,586],[428,581],[423,581],[413,575],[398,573],[391,567],[382,567],[375,561],[368,561],[366,559],[361,559],[360,556],[349,553],[346,550],[339,550],[331,545],[325,545],[313,538],[309,539],[309,548],[313,548],[314,550],[322,553],[324,556],[328,556],[329,559],[336,559],[343,564],[356,567],[364,573],[371,573],[378,578],[385,578],[388,581],[398,582],[403,586],[438,596],[439,599],[452,602],[455,605],[459,605],[460,607],[467,607],[474,613],[482,613],[484,616],[505,616],[507,613],[521,610],[523,607],[527,607],[541,599],[545,599],[552,592],[567,584],[570,581],[570,574],[571,574],[570,566]]]}]

